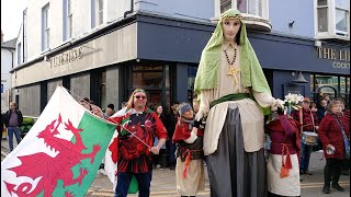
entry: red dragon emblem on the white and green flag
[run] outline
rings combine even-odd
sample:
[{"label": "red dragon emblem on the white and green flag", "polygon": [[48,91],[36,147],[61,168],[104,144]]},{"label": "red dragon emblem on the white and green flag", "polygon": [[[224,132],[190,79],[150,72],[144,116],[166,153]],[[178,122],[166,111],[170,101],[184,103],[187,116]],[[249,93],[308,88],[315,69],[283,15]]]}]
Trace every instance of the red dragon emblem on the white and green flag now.
[{"label": "red dragon emblem on the white and green flag", "polygon": [[[60,138],[56,138],[55,135],[59,134],[57,128],[63,124],[61,116],[58,119],[53,120],[46,128],[37,135],[37,138],[44,139],[44,142],[50,150],[59,151],[59,153],[52,158],[50,155],[38,152],[31,155],[19,157],[22,164],[9,170],[13,171],[16,176],[27,176],[33,179],[42,177],[35,189],[31,183],[21,183],[15,185],[12,183],[5,183],[10,193],[16,194],[19,197],[36,196],[44,190],[44,196],[53,196],[53,192],[56,188],[57,179],[64,182],[64,187],[78,183],[81,185],[82,179],[88,174],[86,169],[79,169],[79,176],[73,178],[71,167],[79,164],[81,160],[90,159],[90,163],[94,162],[94,157],[101,149],[99,144],[93,146],[93,151],[90,153],[82,153],[86,150],[79,132],[82,129],[75,128],[70,120],[65,123],[65,129],[73,134],[76,143],[67,141]],[[15,189],[16,186],[16,189]],[[66,196],[72,196],[71,193],[66,192]]]}]

